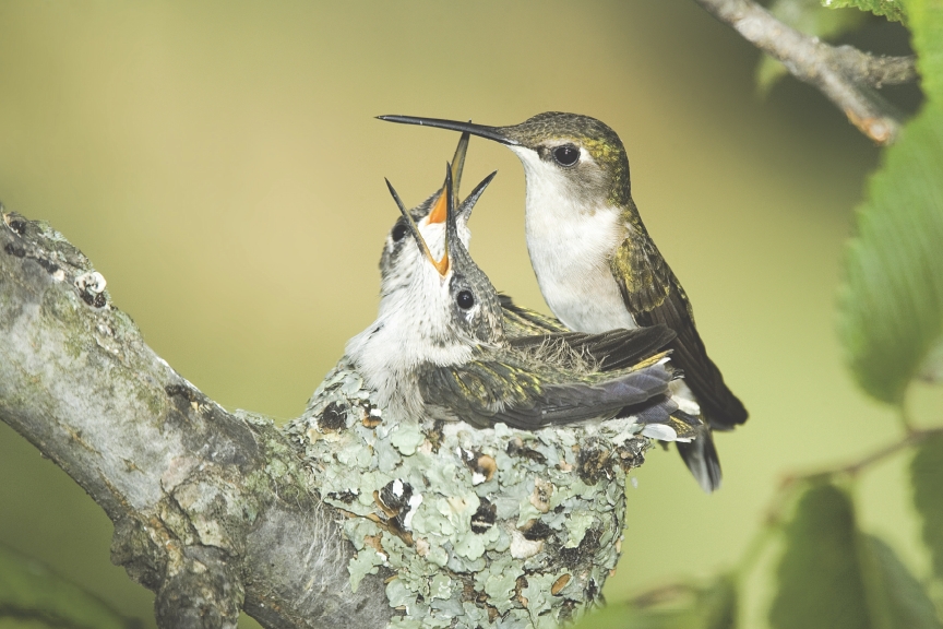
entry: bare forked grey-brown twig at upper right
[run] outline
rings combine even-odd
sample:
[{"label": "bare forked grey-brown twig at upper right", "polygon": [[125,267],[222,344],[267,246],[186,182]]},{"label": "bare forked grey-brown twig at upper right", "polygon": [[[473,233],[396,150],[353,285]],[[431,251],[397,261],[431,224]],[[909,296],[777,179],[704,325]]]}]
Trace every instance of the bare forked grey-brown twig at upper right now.
[{"label": "bare forked grey-brown twig at upper right", "polygon": [[787,26],[752,0],[696,1],[797,79],[817,87],[874,142],[894,142],[900,121],[873,88],[916,80],[912,57],[874,57],[851,46],[829,46]]}]

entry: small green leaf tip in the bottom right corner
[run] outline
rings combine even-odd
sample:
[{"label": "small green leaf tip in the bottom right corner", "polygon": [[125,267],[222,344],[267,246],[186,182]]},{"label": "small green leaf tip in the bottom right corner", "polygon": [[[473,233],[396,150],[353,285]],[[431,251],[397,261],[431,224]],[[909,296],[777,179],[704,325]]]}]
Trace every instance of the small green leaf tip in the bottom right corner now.
[{"label": "small green leaf tip in the bottom right corner", "polygon": [[882,629],[940,629],[933,602],[894,550],[873,535],[860,538],[872,626]]}]

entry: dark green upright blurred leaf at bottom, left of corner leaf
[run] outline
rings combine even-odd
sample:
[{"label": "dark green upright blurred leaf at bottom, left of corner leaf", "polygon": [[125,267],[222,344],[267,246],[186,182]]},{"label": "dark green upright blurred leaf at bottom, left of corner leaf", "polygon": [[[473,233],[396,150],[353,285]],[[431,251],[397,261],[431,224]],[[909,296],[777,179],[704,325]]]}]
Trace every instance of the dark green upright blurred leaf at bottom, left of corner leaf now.
[{"label": "dark green upright blurred leaf at bottom, left of corner leaf", "polygon": [[870,627],[858,565],[851,501],[832,485],[816,485],[800,498],[786,527],[777,569],[779,589],[769,609],[775,629]]}]

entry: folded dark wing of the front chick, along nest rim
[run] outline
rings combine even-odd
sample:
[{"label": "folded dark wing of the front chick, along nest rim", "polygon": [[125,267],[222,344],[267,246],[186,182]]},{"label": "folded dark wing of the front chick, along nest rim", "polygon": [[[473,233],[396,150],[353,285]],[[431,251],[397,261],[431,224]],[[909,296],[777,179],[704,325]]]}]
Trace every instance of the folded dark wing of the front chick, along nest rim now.
[{"label": "folded dark wing of the front chick, along nest rim", "polygon": [[499,422],[536,430],[546,426],[613,417],[624,406],[652,400],[667,420],[673,407],[666,393],[673,378],[665,365],[628,372],[583,375],[553,369],[535,372],[513,360],[473,360],[464,365],[428,365],[419,375],[429,406],[446,408],[459,419],[487,428]]}]

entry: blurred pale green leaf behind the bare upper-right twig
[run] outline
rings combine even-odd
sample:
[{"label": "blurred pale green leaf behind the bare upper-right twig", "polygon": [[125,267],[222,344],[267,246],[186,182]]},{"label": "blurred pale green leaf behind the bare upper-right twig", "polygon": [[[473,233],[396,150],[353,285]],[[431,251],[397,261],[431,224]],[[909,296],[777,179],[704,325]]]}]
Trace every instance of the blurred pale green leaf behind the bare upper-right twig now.
[{"label": "blurred pale green leaf behind the bare upper-right twig", "polygon": [[[829,11],[822,7],[820,0],[774,0],[769,4],[769,12],[784,24],[822,39],[858,28],[867,17],[860,11]],[[763,55],[756,64],[760,94],[765,96],[786,74],[788,70],[783,63]]]}]

